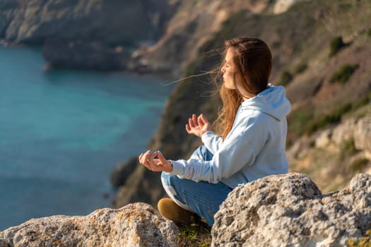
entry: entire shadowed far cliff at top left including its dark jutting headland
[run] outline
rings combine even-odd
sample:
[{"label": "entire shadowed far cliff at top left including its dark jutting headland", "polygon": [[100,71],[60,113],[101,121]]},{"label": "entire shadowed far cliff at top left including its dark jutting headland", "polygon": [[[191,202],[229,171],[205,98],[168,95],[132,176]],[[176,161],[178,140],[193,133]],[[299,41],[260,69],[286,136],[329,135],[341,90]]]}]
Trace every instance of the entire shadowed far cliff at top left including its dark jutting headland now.
[{"label": "entire shadowed far cliff at top left including its dark jutting headland", "polygon": [[157,40],[176,8],[167,0],[0,0],[0,39],[47,41],[49,68],[123,70],[130,57],[123,47]]}]

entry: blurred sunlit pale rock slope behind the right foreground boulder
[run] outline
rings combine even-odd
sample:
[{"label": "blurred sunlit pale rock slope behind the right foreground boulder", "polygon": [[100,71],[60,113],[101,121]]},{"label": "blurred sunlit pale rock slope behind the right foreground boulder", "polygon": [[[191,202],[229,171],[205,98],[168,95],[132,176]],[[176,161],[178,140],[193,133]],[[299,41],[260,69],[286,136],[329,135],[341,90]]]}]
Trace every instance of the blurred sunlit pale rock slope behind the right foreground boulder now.
[{"label": "blurred sunlit pale rock slope behind the right foreground boulder", "polygon": [[[292,171],[312,177],[322,191],[341,188],[355,174],[371,173],[371,104],[337,126],[303,136],[288,149]],[[329,181],[331,178],[331,181]]]}]

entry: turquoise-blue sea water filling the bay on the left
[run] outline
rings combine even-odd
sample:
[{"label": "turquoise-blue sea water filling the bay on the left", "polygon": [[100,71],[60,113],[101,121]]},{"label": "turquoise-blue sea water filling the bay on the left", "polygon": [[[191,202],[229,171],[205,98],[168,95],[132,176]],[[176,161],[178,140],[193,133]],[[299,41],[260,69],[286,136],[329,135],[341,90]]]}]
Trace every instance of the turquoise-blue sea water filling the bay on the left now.
[{"label": "turquoise-blue sea water filling the bay on the left", "polygon": [[112,168],[146,148],[171,90],[44,65],[40,49],[0,48],[0,231],[110,206]]}]

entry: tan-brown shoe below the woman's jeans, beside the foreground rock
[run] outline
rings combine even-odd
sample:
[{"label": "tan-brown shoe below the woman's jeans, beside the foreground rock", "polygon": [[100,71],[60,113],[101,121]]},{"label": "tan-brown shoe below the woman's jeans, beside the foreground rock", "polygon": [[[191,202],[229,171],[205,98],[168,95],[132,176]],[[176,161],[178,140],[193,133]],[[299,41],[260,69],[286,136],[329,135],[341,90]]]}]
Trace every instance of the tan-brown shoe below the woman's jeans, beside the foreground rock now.
[{"label": "tan-brown shoe below the woman's jeans, beside the foreground rock", "polygon": [[166,219],[172,220],[177,226],[191,225],[193,223],[199,224],[201,218],[194,212],[184,210],[184,208],[179,207],[170,198],[162,198],[157,204],[158,211]]}]

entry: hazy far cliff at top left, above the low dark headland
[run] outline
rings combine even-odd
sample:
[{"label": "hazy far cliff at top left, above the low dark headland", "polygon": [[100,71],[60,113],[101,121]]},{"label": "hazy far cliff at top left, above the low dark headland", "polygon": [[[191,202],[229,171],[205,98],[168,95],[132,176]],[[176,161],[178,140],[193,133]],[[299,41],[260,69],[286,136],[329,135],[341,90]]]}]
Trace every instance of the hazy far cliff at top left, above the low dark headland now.
[{"label": "hazy far cliff at top left, above the low dark headland", "polygon": [[48,37],[133,44],[155,40],[171,11],[165,0],[1,0],[0,37],[31,44]]}]

